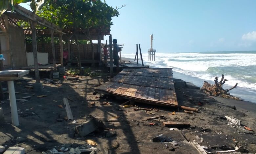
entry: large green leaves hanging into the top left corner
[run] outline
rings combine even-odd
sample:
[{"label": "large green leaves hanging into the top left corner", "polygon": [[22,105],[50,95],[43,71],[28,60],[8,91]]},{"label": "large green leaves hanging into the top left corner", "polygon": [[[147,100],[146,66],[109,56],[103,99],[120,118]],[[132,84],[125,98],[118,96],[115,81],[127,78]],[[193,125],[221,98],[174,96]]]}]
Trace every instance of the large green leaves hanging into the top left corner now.
[{"label": "large green leaves hanging into the top left corner", "polygon": [[9,7],[11,7],[13,11],[15,5],[27,2],[30,2],[30,8],[34,12],[37,12],[46,1],[47,0],[0,0],[0,15],[2,15]]}]

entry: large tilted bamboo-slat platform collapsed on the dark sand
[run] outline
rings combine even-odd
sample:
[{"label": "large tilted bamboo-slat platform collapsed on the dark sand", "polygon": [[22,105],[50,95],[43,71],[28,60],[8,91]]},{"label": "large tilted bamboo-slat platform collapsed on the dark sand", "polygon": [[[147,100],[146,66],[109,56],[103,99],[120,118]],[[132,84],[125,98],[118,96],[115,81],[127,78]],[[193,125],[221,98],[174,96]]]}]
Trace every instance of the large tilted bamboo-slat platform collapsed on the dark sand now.
[{"label": "large tilted bamboo-slat platform collapsed on the dark sand", "polygon": [[137,102],[178,107],[171,68],[125,68],[114,78],[95,88]]}]

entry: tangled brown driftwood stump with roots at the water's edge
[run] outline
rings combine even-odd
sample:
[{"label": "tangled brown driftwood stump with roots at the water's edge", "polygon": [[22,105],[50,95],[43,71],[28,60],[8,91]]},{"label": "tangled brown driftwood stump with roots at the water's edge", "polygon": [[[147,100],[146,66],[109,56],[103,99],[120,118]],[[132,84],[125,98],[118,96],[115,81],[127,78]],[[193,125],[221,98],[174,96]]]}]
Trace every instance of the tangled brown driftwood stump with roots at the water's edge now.
[{"label": "tangled brown driftwood stump with roots at the water's edge", "polygon": [[221,96],[224,98],[232,98],[232,99],[239,99],[238,97],[231,96],[228,92],[234,88],[236,88],[237,84],[230,88],[230,89],[223,89],[223,85],[225,82],[228,81],[227,79],[224,79],[224,74],[221,75],[221,80],[218,81],[218,77],[215,77],[214,82],[215,84],[210,84],[207,81],[204,81],[203,87],[201,88],[206,94],[211,96]]}]

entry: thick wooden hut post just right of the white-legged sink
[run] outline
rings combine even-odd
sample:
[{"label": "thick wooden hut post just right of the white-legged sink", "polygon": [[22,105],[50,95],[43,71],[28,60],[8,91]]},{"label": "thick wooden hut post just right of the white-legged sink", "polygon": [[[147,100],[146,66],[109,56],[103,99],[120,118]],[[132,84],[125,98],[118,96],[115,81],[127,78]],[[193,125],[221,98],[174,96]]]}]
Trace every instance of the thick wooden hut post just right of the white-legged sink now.
[{"label": "thick wooden hut post just right of the white-legged sink", "polygon": [[40,83],[40,76],[39,76],[39,69],[38,69],[38,61],[37,61],[37,44],[36,44],[36,22],[29,20],[29,24],[32,31],[32,48],[33,48],[33,54],[34,54],[34,67],[35,67],[35,79],[36,83]]}]

